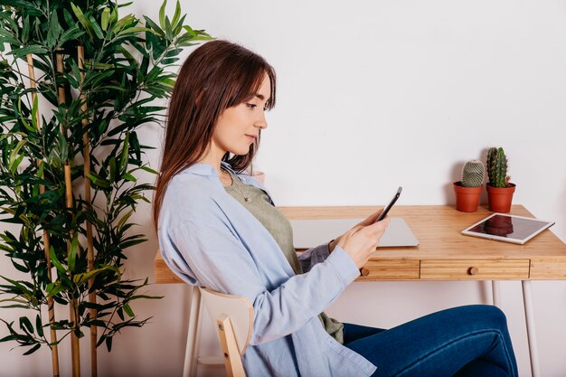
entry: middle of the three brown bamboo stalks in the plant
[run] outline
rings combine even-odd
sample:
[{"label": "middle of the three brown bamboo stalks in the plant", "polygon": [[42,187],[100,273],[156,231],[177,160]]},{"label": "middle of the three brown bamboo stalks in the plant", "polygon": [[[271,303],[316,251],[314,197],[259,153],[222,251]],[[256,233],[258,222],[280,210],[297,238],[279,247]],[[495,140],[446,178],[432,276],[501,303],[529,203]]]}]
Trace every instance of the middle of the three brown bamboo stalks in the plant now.
[{"label": "middle of the three brown bamboo stalks in the plant", "polygon": [[[56,53],[57,57],[57,71],[63,71],[63,55],[61,52]],[[65,88],[59,87],[59,103],[65,103]],[[61,132],[66,132],[65,127],[61,124]],[[65,138],[67,135],[64,135]],[[71,181],[71,165],[68,161],[65,162],[65,196],[67,199],[67,208],[72,210],[72,181]],[[72,238],[72,235],[71,235]],[[71,250],[71,242],[67,242],[67,250]],[[71,298],[69,303],[69,316],[72,323],[73,331],[71,332],[71,362],[72,362],[72,376],[80,377],[80,340],[79,336],[75,334],[75,330],[79,328],[79,305],[76,298]]]}]

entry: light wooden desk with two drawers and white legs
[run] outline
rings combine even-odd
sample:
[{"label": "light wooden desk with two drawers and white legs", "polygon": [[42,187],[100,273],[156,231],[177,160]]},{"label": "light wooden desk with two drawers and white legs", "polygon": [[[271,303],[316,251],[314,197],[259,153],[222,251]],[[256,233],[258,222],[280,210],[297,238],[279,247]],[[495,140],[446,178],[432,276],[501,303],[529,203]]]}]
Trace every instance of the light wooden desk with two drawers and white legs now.
[{"label": "light wooden desk with two drawers and white legs", "polygon": [[[375,211],[375,207],[279,207],[279,210],[288,219],[363,218]],[[420,245],[376,250],[364,266],[367,275],[357,280],[522,280],[531,369],[533,377],[538,377],[530,281],[566,279],[566,245],[551,231],[543,231],[525,245],[460,233],[490,213],[486,208],[465,213],[442,205],[393,207],[390,216],[403,218]],[[522,205],[514,205],[511,213],[533,217]],[[156,283],[182,282],[157,253]],[[494,304],[498,305],[499,289],[495,281],[493,287]]]}]

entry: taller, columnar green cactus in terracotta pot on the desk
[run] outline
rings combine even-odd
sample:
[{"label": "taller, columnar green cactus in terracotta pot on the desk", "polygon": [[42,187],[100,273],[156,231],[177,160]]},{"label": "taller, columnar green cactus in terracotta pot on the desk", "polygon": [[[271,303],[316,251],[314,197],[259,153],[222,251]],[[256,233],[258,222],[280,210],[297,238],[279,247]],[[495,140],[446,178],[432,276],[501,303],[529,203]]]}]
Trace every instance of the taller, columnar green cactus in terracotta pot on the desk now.
[{"label": "taller, columnar green cactus in terracotta pot on the desk", "polygon": [[513,202],[515,184],[509,183],[507,157],[503,148],[491,147],[487,151],[487,203],[491,212],[509,212]]}]

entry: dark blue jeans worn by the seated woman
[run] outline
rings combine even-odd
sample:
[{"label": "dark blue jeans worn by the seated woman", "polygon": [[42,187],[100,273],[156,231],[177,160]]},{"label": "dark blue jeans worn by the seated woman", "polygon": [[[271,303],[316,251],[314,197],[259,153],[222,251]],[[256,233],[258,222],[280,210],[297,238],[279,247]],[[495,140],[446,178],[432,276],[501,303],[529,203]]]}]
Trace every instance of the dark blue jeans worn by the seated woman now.
[{"label": "dark blue jeans worn by the seated woman", "polygon": [[459,306],[390,330],[344,324],[344,345],[377,366],[373,376],[517,377],[505,314]]}]

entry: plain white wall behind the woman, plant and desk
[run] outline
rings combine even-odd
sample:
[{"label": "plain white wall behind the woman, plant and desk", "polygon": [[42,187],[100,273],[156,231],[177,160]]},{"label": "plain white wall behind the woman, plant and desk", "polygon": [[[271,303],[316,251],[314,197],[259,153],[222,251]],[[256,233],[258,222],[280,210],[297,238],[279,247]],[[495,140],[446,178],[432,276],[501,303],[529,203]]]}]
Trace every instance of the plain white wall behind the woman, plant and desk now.
[{"label": "plain white wall behind the woman, plant and desk", "polygon": [[[138,0],[131,9],[155,17],[158,6]],[[278,105],[257,159],[278,205],[379,205],[398,185],[400,204],[453,203],[450,183],[462,163],[505,146],[514,203],[557,221],[552,231],[566,240],[566,2],[214,0],[184,1],[184,10],[193,27],[241,42],[278,72]],[[146,143],[161,132],[148,126]],[[158,151],[150,158],[157,166]],[[136,220],[151,240],[129,251],[127,273],[153,277],[149,212]],[[6,260],[3,275],[12,273]],[[528,377],[521,284],[502,286],[520,375]],[[119,335],[112,353],[100,352],[101,376],[180,375],[184,287],[149,292],[165,298],[134,307],[153,319]],[[479,282],[354,283],[327,312],[388,327],[488,303],[490,292]],[[564,376],[566,282],[533,282],[533,299],[542,375]],[[216,352],[215,342],[207,327],[203,353]],[[50,375],[48,353],[24,357],[8,352],[12,345],[0,344],[0,376]],[[82,348],[88,354],[86,341]]]}]

